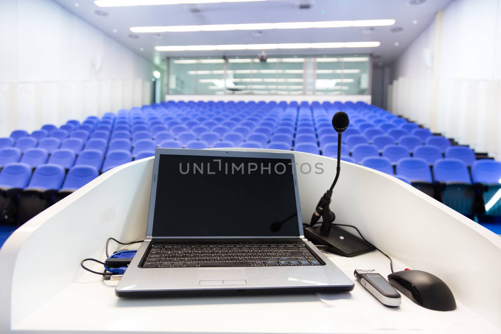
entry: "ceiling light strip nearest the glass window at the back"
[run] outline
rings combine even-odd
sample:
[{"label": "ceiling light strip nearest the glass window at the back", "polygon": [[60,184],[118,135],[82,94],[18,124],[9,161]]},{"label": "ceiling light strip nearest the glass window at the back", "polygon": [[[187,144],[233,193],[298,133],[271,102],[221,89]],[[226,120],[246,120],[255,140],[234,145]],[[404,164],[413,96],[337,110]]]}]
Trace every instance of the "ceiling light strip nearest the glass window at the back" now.
[{"label": "ceiling light strip nearest the glass window at the back", "polygon": [[246,45],[189,45],[160,46],[156,51],[213,51],[213,50],[272,50],[272,49],[338,49],[338,48],[376,48],[379,42],[348,43],[286,43],[286,44],[246,44]]}]

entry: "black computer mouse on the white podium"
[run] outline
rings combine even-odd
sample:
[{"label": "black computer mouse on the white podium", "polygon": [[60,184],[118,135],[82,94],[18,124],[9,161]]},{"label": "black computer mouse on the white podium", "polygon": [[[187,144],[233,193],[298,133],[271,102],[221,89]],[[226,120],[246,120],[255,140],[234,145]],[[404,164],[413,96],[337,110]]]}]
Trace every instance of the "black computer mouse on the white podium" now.
[{"label": "black computer mouse on the white podium", "polygon": [[421,270],[402,270],[388,275],[394,288],[423,307],[437,311],[456,309],[456,301],[447,284]]}]

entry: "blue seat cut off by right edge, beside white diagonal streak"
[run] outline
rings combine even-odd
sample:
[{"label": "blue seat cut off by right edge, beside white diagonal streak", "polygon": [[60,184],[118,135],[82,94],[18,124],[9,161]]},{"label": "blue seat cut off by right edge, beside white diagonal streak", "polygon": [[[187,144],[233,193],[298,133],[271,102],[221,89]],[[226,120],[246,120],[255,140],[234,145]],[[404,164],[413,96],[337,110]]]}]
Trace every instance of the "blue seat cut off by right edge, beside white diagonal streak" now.
[{"label": "blue seat cut off by right edge, beside white diagonal streak", "polygon": [[471,178],[474,183],[481,183],[485,187],[482,193],[485,213],[479,217],[479,221],[500,217],[501,162],[490,159],[475,160],[471,165]]}]

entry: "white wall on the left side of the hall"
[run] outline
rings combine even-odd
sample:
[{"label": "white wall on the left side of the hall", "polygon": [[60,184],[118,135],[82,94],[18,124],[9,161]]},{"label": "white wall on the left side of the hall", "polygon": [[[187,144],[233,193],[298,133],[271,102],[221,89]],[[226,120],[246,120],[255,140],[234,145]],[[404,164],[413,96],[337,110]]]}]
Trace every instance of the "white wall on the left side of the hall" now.
[{"label": "white wall on the left side of the hall", "polygon": [[51,0],[0,0],[0,137],[150,103],[152,63]]}]

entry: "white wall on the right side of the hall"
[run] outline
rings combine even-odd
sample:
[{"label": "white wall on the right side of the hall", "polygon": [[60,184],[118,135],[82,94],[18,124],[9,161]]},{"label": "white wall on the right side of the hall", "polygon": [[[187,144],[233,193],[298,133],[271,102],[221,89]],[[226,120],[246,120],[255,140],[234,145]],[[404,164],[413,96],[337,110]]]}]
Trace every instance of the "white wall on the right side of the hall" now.
[{"label": "white wall on the right side of the hall", "polygon": [[390,110],[501,159],[501,0],[455,0],[393,66]]}]

